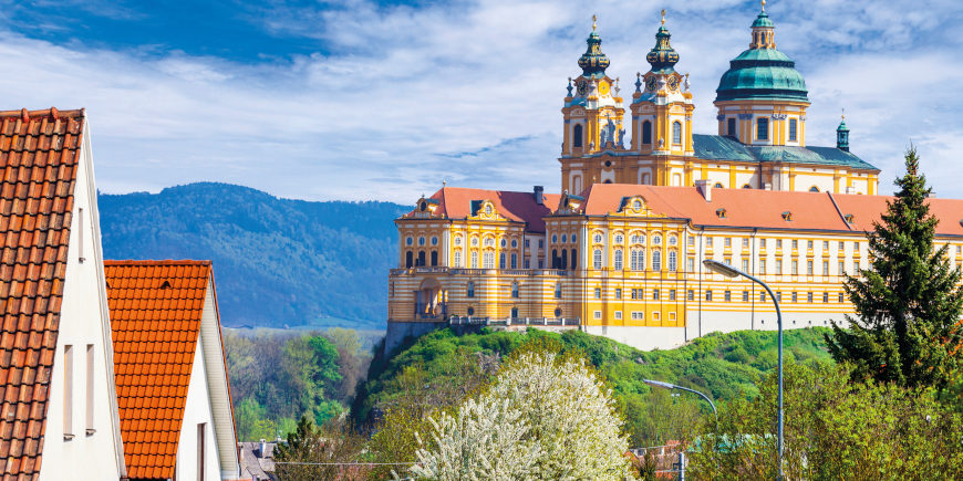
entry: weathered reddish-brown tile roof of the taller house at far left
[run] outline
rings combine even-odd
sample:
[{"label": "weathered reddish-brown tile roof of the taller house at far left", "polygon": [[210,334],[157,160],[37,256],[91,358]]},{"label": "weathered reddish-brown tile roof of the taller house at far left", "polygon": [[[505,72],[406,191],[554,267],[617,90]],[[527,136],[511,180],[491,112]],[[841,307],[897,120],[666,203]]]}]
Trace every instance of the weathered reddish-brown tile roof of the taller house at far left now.
[{"label": "weathered reddish-brown tile roof of the taller house at far left", "polygon": [[0,474],[40,473],[83,111],[0,112]]}]

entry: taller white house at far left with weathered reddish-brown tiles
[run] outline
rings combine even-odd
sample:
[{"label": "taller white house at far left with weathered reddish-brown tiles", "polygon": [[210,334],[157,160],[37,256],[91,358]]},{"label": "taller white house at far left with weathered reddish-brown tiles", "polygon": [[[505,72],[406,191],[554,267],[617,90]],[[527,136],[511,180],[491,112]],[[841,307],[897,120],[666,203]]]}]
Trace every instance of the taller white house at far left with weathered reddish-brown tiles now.
[{"label": "taller white house at far left with weathered reddish-brown tiles", "polygon": [[126,475],[84,111],[0,112],[0,474]]}]

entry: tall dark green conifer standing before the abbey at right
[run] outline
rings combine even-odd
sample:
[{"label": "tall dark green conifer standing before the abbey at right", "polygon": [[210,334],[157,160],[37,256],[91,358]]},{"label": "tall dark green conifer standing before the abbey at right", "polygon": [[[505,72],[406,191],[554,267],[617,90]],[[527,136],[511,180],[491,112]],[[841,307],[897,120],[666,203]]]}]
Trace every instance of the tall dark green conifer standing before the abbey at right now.
[{"label": "tall dark green conifer standing before the abbey at right", "polygon": [[855,378],[944,388],[963,355],[960,270],[951,268],[949,245],[933,249],[939,220],[912,147],[905,165],[895,199],[868,233],[871,269],[843,285],[858,315],[846,316],[849,331],[833,322],[826,341],[837,362],[855,366]]}]

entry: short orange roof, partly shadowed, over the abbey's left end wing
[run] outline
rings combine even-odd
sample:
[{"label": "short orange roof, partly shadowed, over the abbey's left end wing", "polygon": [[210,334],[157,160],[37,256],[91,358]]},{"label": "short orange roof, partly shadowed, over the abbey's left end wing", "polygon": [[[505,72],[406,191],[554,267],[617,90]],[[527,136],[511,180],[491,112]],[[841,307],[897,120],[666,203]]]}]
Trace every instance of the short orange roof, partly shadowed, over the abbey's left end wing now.
[{"label": "short orange roof, partly shadowed, over the abbey's left end wing", "polygon": [[555,206],[558,206],[561,196],[546,194],[543,197],[542,203],[537,203],[532,192],[444,187],[431,198],[438,201],[438,212],[449,219],[465,219],[472,216],[473,200],[488,200],[505,218],[527,223],[526,230],[545,232],[543,218],[552,212]]}]

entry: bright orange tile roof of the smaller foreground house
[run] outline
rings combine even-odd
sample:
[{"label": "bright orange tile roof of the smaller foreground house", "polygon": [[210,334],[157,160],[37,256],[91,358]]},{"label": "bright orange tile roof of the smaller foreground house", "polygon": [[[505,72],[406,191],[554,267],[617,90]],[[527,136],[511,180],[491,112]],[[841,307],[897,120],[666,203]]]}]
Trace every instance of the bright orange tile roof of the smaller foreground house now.
[{"label": "bright orange tile roof of the smaller foreground house", "polygon": [[104,261],[124,460],[174,477],[210,261]]}]

